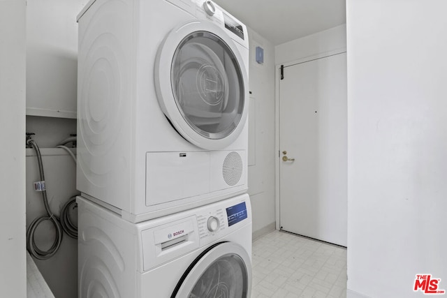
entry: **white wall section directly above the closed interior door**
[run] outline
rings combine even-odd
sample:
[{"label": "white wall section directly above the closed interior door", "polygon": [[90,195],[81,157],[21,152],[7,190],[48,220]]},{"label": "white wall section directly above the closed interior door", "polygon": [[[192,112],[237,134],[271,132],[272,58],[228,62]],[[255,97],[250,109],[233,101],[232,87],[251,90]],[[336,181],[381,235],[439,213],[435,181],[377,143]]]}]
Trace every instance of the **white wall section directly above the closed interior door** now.
[{"label": "white wall section directly above the closed interior door", "polygon": [[346,24],[277,45],[274,61],[275,64],[290,64],[306,57],[337,51],[346,51]]}]

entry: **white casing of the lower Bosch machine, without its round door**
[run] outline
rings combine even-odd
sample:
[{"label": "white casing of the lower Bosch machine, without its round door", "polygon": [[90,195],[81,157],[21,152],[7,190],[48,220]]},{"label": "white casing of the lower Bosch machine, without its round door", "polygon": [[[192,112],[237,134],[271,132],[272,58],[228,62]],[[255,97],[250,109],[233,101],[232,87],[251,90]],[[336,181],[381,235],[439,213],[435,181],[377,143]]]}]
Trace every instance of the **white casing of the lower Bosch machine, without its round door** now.
[{"label": "white casing of the lower Bosch machine, without its round door", "polygon": [[[247,194],[136,224],[90,200],[77,201],[80,297],[170,297],[192,262],[221,242],[242,249],[251,285]],[[219,224],[208,225],[210,218]]]}]

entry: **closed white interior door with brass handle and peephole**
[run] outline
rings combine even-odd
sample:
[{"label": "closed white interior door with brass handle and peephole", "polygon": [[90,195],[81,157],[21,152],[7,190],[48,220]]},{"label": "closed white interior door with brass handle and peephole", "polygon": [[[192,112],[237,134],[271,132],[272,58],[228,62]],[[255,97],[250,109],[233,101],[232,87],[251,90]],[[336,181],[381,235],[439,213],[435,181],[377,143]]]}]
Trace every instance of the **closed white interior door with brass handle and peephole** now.
[{"label": "closed white interior door with brass handle and peephole", "polygon": [[281,230],[342,246],[347,242],[346,98],[346,53],[286,66],[279,80]]}]

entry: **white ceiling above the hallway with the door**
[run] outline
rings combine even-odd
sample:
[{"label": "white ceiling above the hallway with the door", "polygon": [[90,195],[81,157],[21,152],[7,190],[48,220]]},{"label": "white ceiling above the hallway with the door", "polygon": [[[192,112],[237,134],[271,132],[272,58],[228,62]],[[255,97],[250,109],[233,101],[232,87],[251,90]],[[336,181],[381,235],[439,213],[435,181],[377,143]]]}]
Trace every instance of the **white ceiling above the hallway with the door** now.
[{"label": "white ceiling above the hallway with the door", "polygon": [[273,45],[346,23],[346,0],[214,0]]}]

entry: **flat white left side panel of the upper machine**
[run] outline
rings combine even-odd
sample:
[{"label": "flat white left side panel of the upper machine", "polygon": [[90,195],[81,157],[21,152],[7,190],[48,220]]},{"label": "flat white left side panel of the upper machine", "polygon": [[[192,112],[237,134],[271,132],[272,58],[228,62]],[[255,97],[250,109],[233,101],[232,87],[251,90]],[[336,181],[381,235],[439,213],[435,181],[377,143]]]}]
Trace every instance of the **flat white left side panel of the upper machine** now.
[{"label": "flat white left side panel of the upper machine", "polygon": [[79,22],[76,184],[120,209],[131,188],[132,15],[130,0],[97,0]]}]

